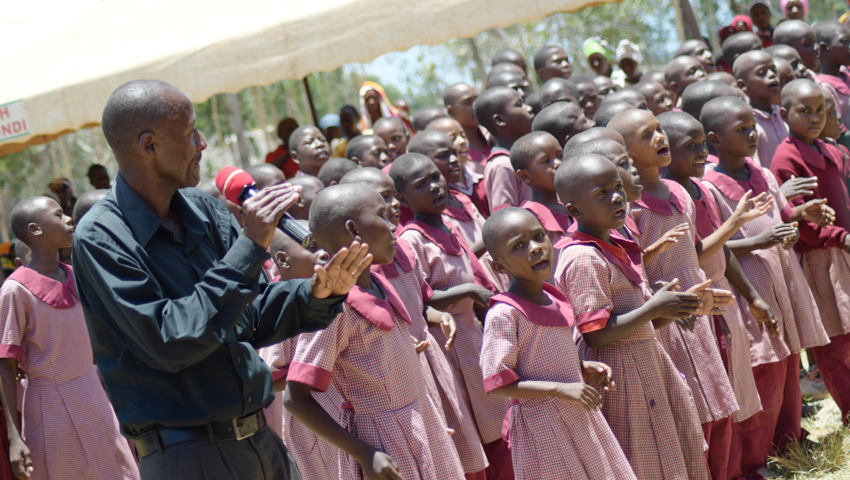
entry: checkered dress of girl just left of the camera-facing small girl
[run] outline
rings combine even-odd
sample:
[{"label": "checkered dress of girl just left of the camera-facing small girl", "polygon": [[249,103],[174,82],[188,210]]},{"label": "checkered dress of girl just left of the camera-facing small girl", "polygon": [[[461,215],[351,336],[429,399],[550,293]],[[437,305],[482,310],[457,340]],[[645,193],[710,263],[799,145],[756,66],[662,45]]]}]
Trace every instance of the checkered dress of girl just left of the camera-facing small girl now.
[{"label": "checkered dress of girl just left of the camera-facing small girl", "polygon": [[[477,260],[460,244],[463,240],[456,232],[440,232],[420,222],[411,222],[399,237],[413,248],[425,272],[426,281],[435,290],[446,290],[464,283],[481,284],[478,277],[486,276]],[[477,266],[474,267],[474,264]],[[484,392],[481,366],[478,363],[483,327],[475,317],[472,299],[459,300],[446,311],[457,322],[455,343],[446,355],[456,377],[462,382],[460,393],[467,396],[472,407],[481,441],[485,444],[497,441],[502,437],[502,420],[508,410],[508,401]],[[438,342],[445,343],[439,328],[432,328],[431,333]]]}]

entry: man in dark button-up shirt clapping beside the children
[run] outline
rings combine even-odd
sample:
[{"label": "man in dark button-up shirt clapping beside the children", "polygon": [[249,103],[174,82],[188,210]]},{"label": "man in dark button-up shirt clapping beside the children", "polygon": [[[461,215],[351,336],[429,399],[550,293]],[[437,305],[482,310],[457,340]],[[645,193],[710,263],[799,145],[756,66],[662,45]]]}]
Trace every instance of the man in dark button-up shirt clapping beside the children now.
[{"label": "man in dark button-up shirt clapping beside the children", "polygon": [[[271,373],[256,348],[327,326],[368,267],[342,249],[312,280],[261,273],[298,189],[243,204],[243,228],[194,188],[201,152],[192,103],[154,80],[119,87],[103,112],[115,187],[74,240],[77,291],[92,347],[144,478],[298,478],[262,408]],[[241,232],[241,233],[240,233]]]}]

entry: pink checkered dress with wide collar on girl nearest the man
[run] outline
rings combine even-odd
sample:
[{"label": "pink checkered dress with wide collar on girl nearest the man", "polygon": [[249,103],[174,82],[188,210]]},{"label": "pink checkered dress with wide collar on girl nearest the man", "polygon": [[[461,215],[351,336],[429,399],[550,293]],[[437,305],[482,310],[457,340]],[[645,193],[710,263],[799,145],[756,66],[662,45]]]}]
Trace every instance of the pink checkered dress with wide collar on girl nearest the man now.
[{"label": "pink checkered dress with wide collar on girl nearest the man", "polygon": [[[319,391],[333,383],[344,400],[340,425],[390,455],[405,479],[462,479],[446,424],[426,394],[410,316],[388,281],[372,280],[386,299],[352,288],[331,325],[299,337],[287,381]],[[363,478],[343,452],[339,478]]]}]

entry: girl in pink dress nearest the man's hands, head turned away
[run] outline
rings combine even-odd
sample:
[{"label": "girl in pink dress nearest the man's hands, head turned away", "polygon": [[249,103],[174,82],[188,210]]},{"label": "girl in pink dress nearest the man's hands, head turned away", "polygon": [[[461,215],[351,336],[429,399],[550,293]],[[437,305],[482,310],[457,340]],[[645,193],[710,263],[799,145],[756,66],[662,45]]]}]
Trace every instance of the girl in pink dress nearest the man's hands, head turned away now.
[{"label": "girl in pink dress nearest the man's hands, head turned away", "polygon": [[[365,261],[388,264],[395,236],[385,211],[377,193],[335,185],[313,202],[310,230],[328,251],[345,239],[362,239],[371,252]],[[448,427],[427,395],[410,324],[392,285],[364,270],[337,319],[298,340],[284,402],[293,417],[340,448],[341,479],[464,477]],[[344,400],[336,421],[310,395],[331,383]]]}]

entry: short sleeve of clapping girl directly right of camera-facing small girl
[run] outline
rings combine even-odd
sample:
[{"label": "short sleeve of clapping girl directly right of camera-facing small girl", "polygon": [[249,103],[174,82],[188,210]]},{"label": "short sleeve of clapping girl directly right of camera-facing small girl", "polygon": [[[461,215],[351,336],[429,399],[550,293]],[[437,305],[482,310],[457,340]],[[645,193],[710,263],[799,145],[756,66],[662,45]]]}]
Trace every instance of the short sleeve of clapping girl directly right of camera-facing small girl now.
[{"label": "short sleeve of clapping girl directly right of camera-facing small girl", "polygon": [[561,257],[565,268],[556,281],[573,306],[576,329],[581,333],[602,330],[614,311],[611,266],[594,247],[568,247]]}]

